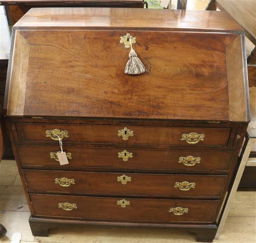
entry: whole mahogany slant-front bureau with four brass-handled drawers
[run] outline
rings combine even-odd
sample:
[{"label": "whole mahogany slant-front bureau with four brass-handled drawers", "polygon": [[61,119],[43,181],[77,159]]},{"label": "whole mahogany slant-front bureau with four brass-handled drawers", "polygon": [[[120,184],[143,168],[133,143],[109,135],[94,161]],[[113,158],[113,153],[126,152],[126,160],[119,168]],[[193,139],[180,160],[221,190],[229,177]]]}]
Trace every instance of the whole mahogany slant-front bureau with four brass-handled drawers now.
[{"label": "whole mahogany slant-front bureau with four brass-handled drawers", "polygon": [[[140,75],[124,73],[131,44]],[[5,109],[33,235],[107,224],[211,242],[249,122],[244,65],[227,13],[31,9]]]}]

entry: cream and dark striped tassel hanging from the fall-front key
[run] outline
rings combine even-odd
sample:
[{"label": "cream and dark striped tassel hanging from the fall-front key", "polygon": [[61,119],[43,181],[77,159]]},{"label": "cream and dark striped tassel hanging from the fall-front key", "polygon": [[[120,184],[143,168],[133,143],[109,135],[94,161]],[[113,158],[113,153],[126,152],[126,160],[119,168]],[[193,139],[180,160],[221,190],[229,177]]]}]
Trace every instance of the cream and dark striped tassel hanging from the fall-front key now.
[{"label": "cream and dark striped tassel hanging from the fall-front key", "polygon": [[137,53],[132,47],[132,41],[130,39],[131,51],[129,53],[129,60],[125,66],[124,73],[129,75],[141,74],[143,72],[147,72],[147,68],[138,58]]}]

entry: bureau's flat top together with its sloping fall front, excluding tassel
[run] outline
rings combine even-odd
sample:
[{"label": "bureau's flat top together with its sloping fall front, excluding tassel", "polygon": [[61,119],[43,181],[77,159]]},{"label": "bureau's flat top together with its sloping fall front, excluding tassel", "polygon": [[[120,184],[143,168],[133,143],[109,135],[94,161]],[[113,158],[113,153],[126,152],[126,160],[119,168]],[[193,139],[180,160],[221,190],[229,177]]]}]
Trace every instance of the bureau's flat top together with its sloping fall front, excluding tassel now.
[{"label": "bureau's flat top together with its sloping fall front, excluding tassel", "polygon": [[[7,115],[248,121],[240,30],[219,12],[33,9],[14,28]],[[124,73],[127,32],[141,75]]]}]

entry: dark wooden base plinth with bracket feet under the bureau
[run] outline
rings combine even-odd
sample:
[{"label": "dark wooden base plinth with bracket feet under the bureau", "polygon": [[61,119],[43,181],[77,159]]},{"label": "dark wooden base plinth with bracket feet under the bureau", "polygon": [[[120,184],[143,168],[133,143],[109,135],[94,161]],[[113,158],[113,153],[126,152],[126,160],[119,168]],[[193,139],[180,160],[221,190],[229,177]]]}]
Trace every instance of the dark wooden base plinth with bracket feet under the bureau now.
[{"label": "dark wooden base plinth with bracket feet under the bureau", "polygon": [[49,230],[69,226],[81,225],[111,225],[111,226],[141,226],[141,227],[164,227],[187,230],[195,234],[197,242],[213,242],[217,231],[216,224],[175,224],[175,223],[126,223],[113,221],[85,221],[67,220],[55,218],[30,217],[29,224],[33,236],[49,236]]}]

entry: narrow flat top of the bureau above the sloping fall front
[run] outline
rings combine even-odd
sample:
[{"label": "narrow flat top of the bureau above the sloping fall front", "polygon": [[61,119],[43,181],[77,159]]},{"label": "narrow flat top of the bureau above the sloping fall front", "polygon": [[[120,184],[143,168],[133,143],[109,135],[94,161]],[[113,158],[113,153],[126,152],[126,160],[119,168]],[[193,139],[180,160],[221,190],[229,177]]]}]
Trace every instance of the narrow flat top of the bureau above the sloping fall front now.
[{"label": "narrow flat top of the bureau above the sloping fall front", "polygon": [[242,31],[221,11],[180,11],[136,8],[34,8],[14,27],[82,27]]}]

